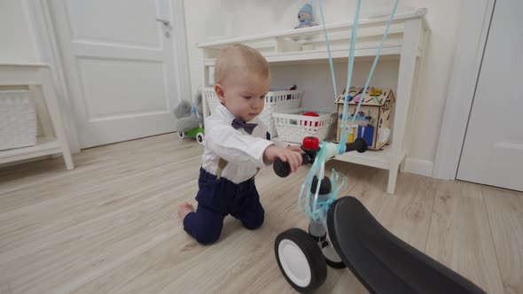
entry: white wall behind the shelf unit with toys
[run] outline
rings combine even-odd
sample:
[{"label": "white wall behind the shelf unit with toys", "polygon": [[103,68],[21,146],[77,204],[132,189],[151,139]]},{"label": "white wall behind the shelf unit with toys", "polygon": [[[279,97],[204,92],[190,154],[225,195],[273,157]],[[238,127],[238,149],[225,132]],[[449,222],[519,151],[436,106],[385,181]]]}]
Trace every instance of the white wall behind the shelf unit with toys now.
[{"label": "white wall behind the shelf unit with toys", "polygon": [[[372,9],[391,7],[391,2],[364,1],[362,17]],[[196,90],[203,81],[201,52],[197,49],[196,43],[215,38],[254,35],[292,28],[297,23],[298,9],[304,3],[307,1],[185,1],[191,89]],[[325,0],[324,5],[326,24],[342,23],[353,19],[355,1]],[[404,0],[401,5],[428,9],[425,18],[431,34],[426,46],[425,64],[419,72],[421,74],[419,97],[414,97],[415,103],[412,109],[414,114],[409,169],[411,172],[430,175],[448,94],[461,1]],[[316,14],[316,21],[320,22],[319,11]],[[397,61],[380,62],[371,84],[395,89],[397,65]],[[363,86],[370,67],[371,62],[356,64],[355,74],[353,74],[354,85]],[[333,97],[329,66],[326,62],[324,66],[277,66],[273,67],[272,71],[274,87],[298,83],[299,87],[306,90],[306,106],[315,105],[316,101],[323,97]],[[347,79],[346,71],[346,65],[336,66],[339,87],[344,86]]]}]

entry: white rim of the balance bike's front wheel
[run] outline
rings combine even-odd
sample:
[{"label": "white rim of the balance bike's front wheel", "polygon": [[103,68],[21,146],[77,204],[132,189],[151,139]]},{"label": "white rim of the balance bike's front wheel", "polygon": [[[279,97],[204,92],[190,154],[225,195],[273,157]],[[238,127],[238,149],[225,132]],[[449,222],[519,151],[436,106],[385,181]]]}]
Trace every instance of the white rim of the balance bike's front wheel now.
[{"label": "white rim of the balance bike's front wheel", "polygon": [[294,284],[301,288],[305,288],[310,284],[310,265],[307,257],[297,244],[289,239],[282,240],[277,246],[277,255],[284,268],[285,275]]}]

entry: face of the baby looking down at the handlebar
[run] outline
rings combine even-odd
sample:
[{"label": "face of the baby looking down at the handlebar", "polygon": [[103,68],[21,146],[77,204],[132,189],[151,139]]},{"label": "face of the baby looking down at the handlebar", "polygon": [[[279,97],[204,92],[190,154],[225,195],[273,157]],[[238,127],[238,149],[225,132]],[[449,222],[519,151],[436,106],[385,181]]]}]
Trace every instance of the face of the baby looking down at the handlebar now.
[{"label": "face of the baby looking down at the handlebar", "polygon": [[236,72],[222,85],[220,101],[234,116],[250,121],[262,112],[269,86],[269,78],[246,71]]}]

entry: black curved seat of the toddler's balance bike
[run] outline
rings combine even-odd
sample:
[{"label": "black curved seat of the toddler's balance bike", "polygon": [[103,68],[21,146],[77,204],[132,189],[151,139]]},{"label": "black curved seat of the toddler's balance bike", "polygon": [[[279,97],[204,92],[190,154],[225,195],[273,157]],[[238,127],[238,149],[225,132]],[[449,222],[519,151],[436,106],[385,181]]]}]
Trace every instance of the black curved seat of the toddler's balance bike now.
[{"label": "black curved seat of the toddler's balance bike", "polygon": [[355,197],[332,203],[332,246],[371,293],[485,293],[381,226]]}]

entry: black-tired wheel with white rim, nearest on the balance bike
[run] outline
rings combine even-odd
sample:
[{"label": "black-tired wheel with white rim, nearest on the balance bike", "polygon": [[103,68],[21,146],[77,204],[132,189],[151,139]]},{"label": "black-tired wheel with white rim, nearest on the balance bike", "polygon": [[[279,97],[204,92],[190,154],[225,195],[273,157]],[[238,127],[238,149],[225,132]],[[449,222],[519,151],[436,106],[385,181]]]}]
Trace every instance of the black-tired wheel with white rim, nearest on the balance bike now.
[{"label": "black-tired wheel with white rim, nearest on the balance bike", "polygon": [[[310,274],[310,279],[305,279],[306,281],[301,282],[301,284],[296,284],[293,281],[296,280],[296,277],[293,276],[293,273],[289,272],[290,277],[286,272],[285,268],[288,271],[291,271],[289,267],[289,260],[280,258],[280,244],[282,244],[282,249],[285,251],[294,250],[294,248],[299,249],[301,253],[305,256],[305,259],[308,264],[308,269]],[[284,246],[290,246],[289,248],[284,248]],[[279,267],[282,274],[285,276],[285,280],[293,286],[293,288],[299,292],[309,292],[312,290],[318,289],[327,278],[327,265],[325,263],[324,255],[316,244],[314,240],[308,234],[301,230],[300,228],[290,228],[285,232],[277,236],[274,243],[274,253],[277,260],[277,266]],[[282,252],[283,253],[283,252]]]}]

